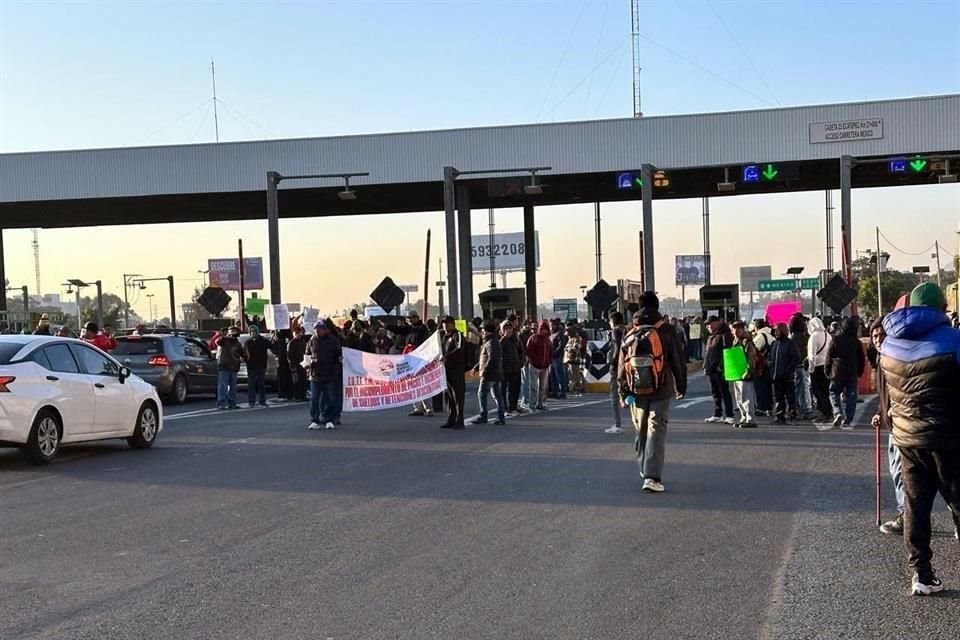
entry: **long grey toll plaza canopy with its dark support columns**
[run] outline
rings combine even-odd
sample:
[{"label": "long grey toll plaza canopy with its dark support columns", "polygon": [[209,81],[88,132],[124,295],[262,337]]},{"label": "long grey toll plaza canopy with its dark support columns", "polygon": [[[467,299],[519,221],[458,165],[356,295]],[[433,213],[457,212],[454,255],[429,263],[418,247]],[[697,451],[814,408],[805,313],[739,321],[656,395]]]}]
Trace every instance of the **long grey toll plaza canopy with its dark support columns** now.
[{"label": "long grey toll plaza canopy with its dark support columns", "polygon": [[[43,227],[266,220],[269,297],[280,301],[281,219],[443,211],[450,309],[473,317],[470,212],[476,208],[522,208],[523,244],[532,246],[537,207],[638,201],[643,287],[656,290],[654,200],[701,198],[706,219],[711,198],[839,189],[847,264],[852,189],[955,183],[958,170],[960,95],[952,94],[478,129],[0,154],[0,220],[4,229],[36,227],[38,220]],[[709,255],[708,233],[704,240]],[[0,278],[2,248],[0,234]],[[536,315],[532,251],[525,252],[524,270],[524,303]]]}]

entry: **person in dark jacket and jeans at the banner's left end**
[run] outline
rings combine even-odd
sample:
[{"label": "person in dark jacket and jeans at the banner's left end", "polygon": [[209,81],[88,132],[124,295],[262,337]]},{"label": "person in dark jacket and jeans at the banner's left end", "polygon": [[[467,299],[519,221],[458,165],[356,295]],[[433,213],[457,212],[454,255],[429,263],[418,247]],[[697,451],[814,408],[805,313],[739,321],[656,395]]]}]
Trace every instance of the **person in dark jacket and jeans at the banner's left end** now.
[{"label": "person in dark jacket and jeans at the banner's left end", "polygon": [[310,425],[311,431],[335,429],[340,420],[337,385],[343,371],[343,345],[330,332],[329,321],[318,320],[307,343],[310,358]]}]

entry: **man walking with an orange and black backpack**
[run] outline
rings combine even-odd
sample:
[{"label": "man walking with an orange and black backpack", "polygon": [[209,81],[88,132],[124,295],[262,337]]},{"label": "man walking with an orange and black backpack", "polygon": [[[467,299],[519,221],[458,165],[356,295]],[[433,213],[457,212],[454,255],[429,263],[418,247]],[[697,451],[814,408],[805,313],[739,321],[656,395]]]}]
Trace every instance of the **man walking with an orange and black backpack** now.
[{"label": "man walking with an orange and black backpack", "polygon": [[670,401],[687,392],[687,365],[676,330],[663,321],[652,291],[640,296],[640,310],[623,337],[617,380],[620,399],[630,407],[634,446],[643,490],[663,491]]}]

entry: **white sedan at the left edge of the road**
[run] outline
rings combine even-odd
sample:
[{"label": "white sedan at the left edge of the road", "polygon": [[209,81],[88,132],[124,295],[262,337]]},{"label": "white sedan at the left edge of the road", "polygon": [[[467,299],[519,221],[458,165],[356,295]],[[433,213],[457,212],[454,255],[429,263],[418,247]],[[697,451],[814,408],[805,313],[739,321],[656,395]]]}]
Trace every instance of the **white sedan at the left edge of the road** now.
[{"label": "white sedan at the left edge of the road", "polygon": [[156,388],[96,347],[71,338],[0,336],[0,446],[34,464],[61,444],[126,438],[153,445],[163,428]]}]

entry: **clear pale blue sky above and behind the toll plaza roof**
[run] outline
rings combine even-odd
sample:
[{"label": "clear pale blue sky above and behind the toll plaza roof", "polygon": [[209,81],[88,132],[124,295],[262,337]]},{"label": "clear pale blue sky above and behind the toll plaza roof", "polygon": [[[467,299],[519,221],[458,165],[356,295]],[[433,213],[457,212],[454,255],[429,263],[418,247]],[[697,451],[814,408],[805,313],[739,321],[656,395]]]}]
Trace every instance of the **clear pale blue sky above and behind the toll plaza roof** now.
[{"label": "clear pale blue sky above and behind the toll plaza roof", "polygon": [[[960,91],[956,0],[661,0],[641,5],[641,32],[657,43],[641,43],[648,115]],[[212,141],[212,113],[205,104],[211,94],[211,58],[217,63],[219,98],[227,105],[220,111],[221,140],[625,117],[631,115],[629,31],[628,0],[3,0],[0,152]],[[184,114],[189,115],[174,122]],[[894,229],[904,207],[918,199],[931,224],[901,230],[905,248],[920,251],[939,239],[955,249],[960,200],[958,190],[949,187],[874,190],[858,196],[860,212],[869,210],[873,217],[859,225],[855,244],[869,246],[873,224]],[[756,224],[761,233],[773,234],[771,204],[813,215],[822,210],[821,201],[822,195],[815,194],[756,202],[737,198],[729,207],[718,203],[717,210],[736,211],[739,223]],[[674,223],[664,215],[657,222],[664,240],[658,244],[661,279],[670,273],[674,252],[698,249],[699,204],[663,207],[681,209],[689,209],[684,214],[689,221],[671,227]],[[558,209],[557,216],[561,224],[569,220],[585,233],[590,229],[587,209]],[[382,220],[387,235],[399,241],[407,240],[406,227],[412,226],[416,233],[411,231],[410,238],[418,247],[427,227],[433,227],[434,237],[442,230],[439,216]],[[635,269],[633,240],[619,247],[614,239],[635,238],[639,221],[632,210],[614,205],[609,220],[608,270],[628,274]],[[251,242],[258,242],[262,229],[250,224]],[[360,223],[341,226],[356,232],[359,227],[350,224]],[[483,222],[478,218],[474,224]],[[504,230],[516,228],[518,221],[504,224]],[[246,229],[238,225],[238,233]],[[8,273],[19,269],[26,275],[32,273],[32,261],[29,240],[24,236],[19,242],[20,233],[7,235]],[[45,231],[44,270],[51,273],[45,279],[66,275],[58,271],[57,260],[68,258],[70,247],[89,233],[121,247],[136,230]],[[150,233],[160,239],[182,237],[171,235],[182,233],[171,226],[154,227]],[[686,241],[667,242],[667,235],[677,234]],[[736,236],[730,241],[736,242]],[[582,274],[557,275],[557,265],[554,277],[542,276],[547,296],[575,294],[577,285],[590,280],[591,243],[585,238]],[[557,249],[552,249],[554,244]],[[805,260],[811,270],[820,268],[822,238],[812,230],[809,245],[804,255],[791,259]],[[287,259],[304,257],[296,254],[293,241],[284,246]],[[563,238],[542,236],[541,246],[544,271],[553,269],[546,256],[562,250]],[[722,245],[714,249],[717,267],[735,274],[739,258],[725,258]],[[758,250],[749,261],[784,259],[775,247],[769,249],[770,255]],[[184,270],[195,274],[206,257],[217,257],[208,256],[209,251],[204,247],[183,256],[190,262]],[[229,255],[226,245],[221,253]],[[117,274],[122,268],[109,260],[99,266]],[[409,277],[415,273],[413,267]],[[365,280],[355,286],[369,289]],[[293,290],[302,291],[304,298],[327,297],[332,306],[356,301],[339,290],[314,294],[306,284],[295,283]]]}]

